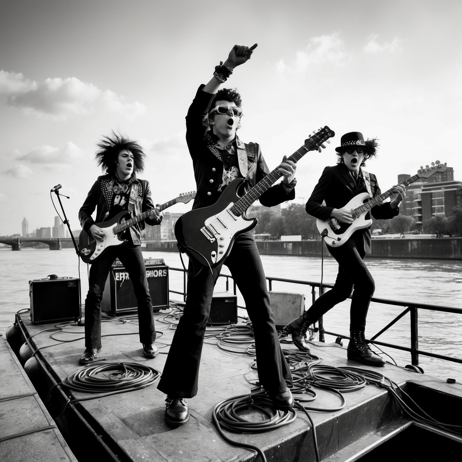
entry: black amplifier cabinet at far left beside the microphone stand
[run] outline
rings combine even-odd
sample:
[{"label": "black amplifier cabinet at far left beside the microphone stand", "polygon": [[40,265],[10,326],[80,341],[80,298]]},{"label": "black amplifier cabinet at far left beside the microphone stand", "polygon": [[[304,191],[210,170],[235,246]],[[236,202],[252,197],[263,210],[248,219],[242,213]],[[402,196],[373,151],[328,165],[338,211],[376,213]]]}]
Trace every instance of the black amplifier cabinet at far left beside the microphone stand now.
[{"label": "black amplifier cabinet at far left beside the microphone stand", "polygon": [[33,324],[71,321],[82,315],[78,278],[29,281],[29,296]]}]

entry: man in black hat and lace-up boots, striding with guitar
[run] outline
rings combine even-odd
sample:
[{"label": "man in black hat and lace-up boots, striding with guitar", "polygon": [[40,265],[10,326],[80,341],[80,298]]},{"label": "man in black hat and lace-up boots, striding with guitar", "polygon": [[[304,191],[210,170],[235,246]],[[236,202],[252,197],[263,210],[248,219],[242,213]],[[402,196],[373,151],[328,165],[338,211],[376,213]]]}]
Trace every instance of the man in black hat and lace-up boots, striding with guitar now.
[{"label": "man in black hat and lace-up boots, striding with guitar", "polygon": [[[306,211],[322,220],[334,218],[340,223],[353,223],[351,210],[344,208],[345,205],[360,193],[368,192],[371,197],[381,194],[376,176],[362,169],[366,160],[376,157],[378,144],[376,139],[365,141],[359,132],[344,134],[340,144],[341,146],[335,148],[338,164],[324,169],[306,203]],[[398,206],[404,199],[405,192],[399,185],[392,191],[396,193],[392,201],[371,208],[374,218],[391,219],[398,215]],[[366,219],[369,218],[368,213]],[[334,288],[321,295],[309,310],[284,329],[292,335],[299,350],[309,352],[310,346],[305,342],[308,327],[334,305],[346,300],[354,286],[350,309],[351,340],[347,357],[367,365],[383,366],[385,360],[371,352],[364,335],[367,310],[375,290],[374,280],[364,262],[365,255],[371,253],[371,231],[369,228],[359,229],[340,247],[327,248],[339,263]]]}]

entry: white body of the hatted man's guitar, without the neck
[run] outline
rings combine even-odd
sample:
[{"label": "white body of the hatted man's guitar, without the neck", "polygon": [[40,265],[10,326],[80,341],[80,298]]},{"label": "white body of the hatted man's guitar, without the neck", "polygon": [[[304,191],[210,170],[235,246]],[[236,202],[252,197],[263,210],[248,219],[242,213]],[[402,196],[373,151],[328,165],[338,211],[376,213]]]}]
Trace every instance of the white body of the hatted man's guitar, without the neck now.
[{"label": "white body of the hatted man's guitar, without the neck", "polygon": [[[363,205],[366,201],[370,200],[371,196],[368,193],[361,193],[353,197],[345,207],[352,211],[353,216],[355,215],[354,209]],[[329,218],[328,220],[316,220],[316,227],[321,236],[325,234],[324,230],[327,230],[327,236],[323,236],[324,242],[330,247],[340,247],[351,237],[351,235],[357,231],[364,228],[369,228],[372,225],[372,220],[366,220],[365,216],[369,212],[366,210],[364,213],[361,213],[357,216],[351,225],[346,223],[339,223],[336,219]]]}]

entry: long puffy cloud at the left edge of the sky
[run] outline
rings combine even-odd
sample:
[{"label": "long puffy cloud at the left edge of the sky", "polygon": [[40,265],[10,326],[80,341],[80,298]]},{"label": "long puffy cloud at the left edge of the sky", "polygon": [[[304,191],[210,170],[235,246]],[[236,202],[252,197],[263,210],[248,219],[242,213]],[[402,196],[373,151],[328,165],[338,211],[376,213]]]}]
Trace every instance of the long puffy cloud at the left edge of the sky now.
[{"label": "long puffy cloud at the left edge of the sky", "polygon": [[127,103],[123,96],[75,77],[46,79],[42,83],[25,79],[21,73],[0,71],[0,94],[6,103],[22,109],[26,114],[65,119],[69,116],[90,114],[106,109],[122,114],[127,119],[146,112],[144,104]]}]

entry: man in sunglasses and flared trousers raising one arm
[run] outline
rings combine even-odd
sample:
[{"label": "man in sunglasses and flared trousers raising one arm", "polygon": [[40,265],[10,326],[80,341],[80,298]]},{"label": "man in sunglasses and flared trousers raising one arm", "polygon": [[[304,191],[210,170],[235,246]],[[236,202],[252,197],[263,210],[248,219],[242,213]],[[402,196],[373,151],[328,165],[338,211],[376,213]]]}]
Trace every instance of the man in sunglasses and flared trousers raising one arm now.
[{"label": "man in sunglasses and flared trousers raising one arm", "polygon": [[[213,205],[228,184],[245,178],[255,186],[269,173],[256,143],[243,143],[236,134],[240,127],[241,97],[237,90],[222,89],[220,85],[234,68],[250,59],[256,44],[249,48],[235,45],[224,64],[215,67],[212,79],[201,85],[186,116],[186,141],[193,160],[197,194],[193,209]],[[260,196],[260,202],[272,207],[295,198],[294,162],[280,164],[282,182]],[[293,404],[286,386],[291,377],[281,352],[269,303],[266,278],[251,231],[240,234],[234,241],[225,265],[231,271],[245,300],[245,306],[255,332],[258,376],[274,404],[287,407]],[[199,365],[206,323],[212,303],[213,287],[221,265],[213,269],[189,261],[188,297],[180,317],[158,389],[167,395],[165,420],[170,426],[180,426],[189,420],[185,398],[197,394]]]}]

